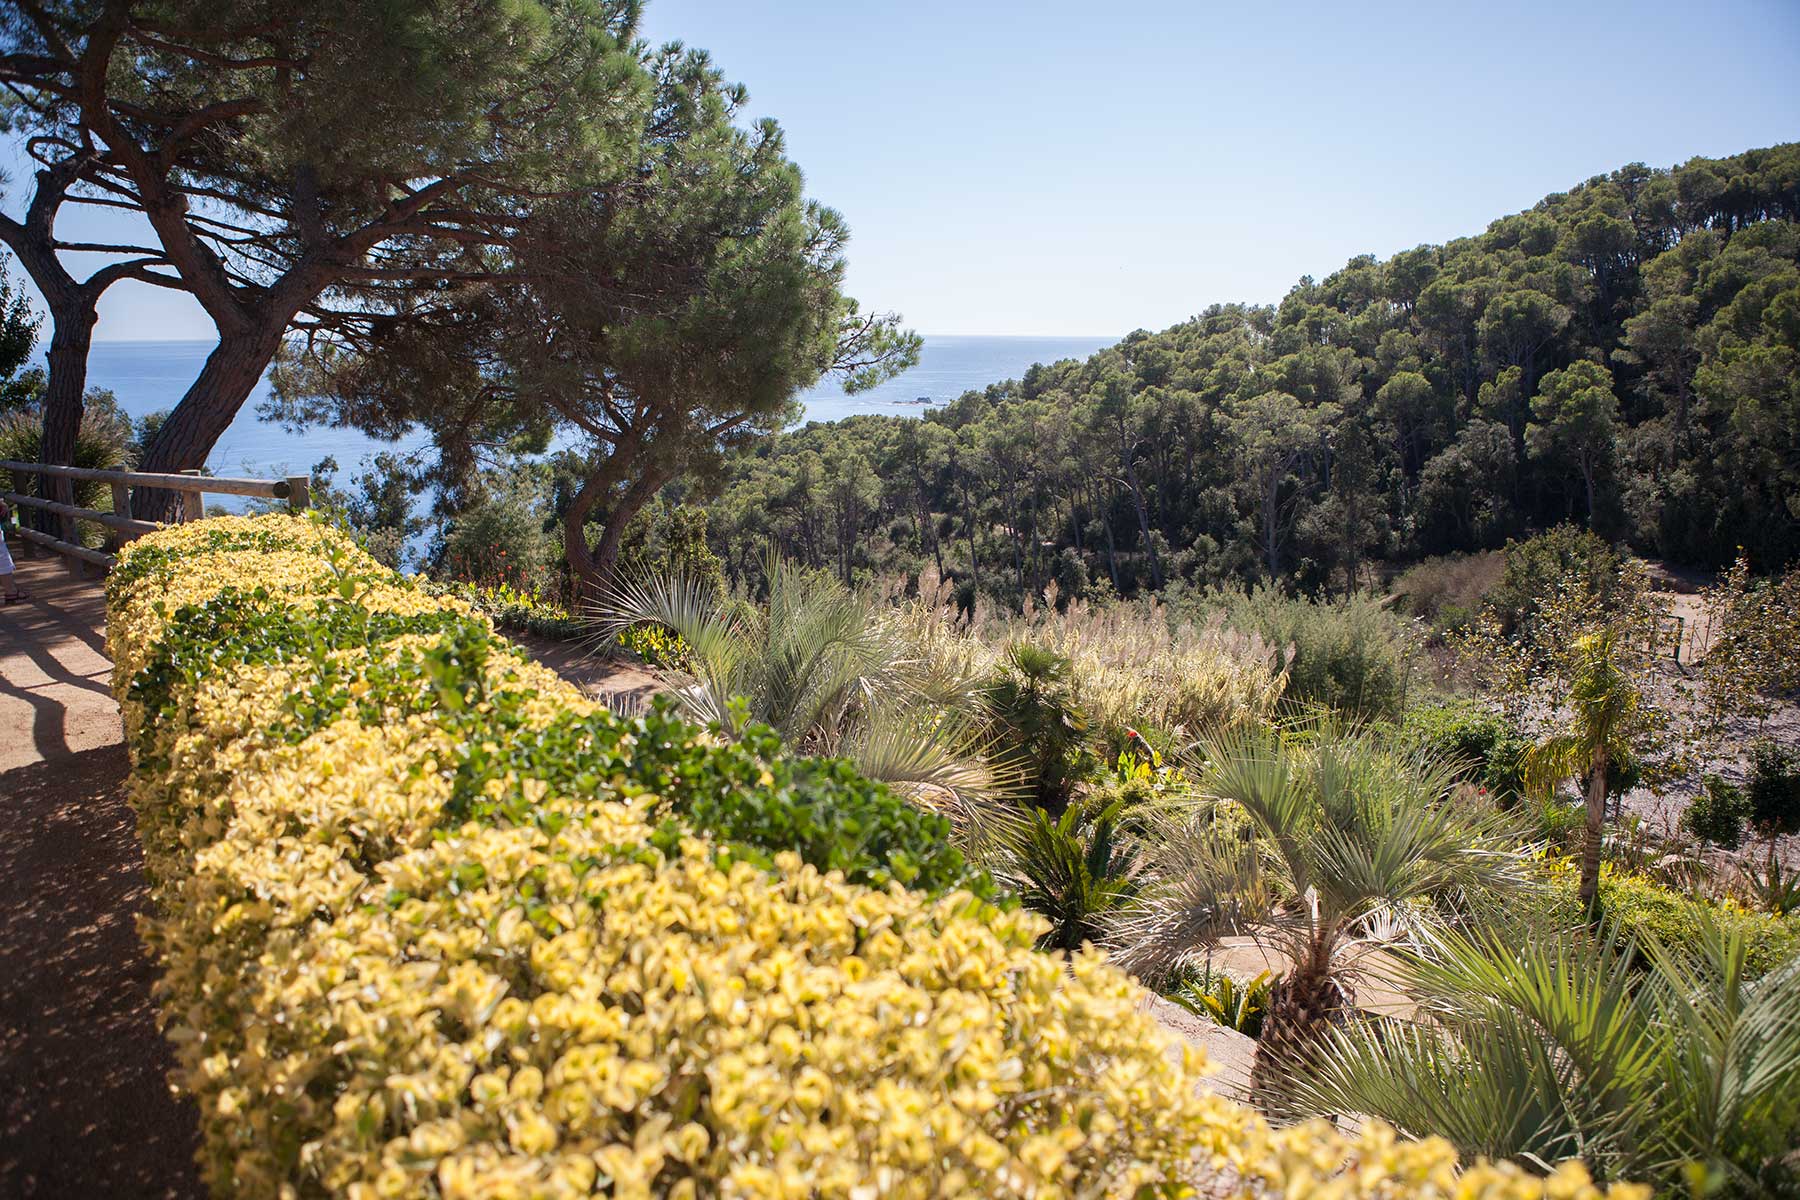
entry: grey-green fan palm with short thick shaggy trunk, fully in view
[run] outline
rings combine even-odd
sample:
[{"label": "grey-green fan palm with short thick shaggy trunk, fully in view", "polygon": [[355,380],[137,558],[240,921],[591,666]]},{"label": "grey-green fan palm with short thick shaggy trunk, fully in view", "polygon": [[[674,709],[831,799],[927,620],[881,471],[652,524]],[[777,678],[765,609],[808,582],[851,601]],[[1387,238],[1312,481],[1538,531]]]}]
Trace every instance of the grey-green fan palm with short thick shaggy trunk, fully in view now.
[{"label": "grey-green fan palm with short thick shaggy trunk, fully in view", "polygon": [[[1199,770],[1199,799],[1147,833],[1148,883],[1111,941],[1150,981],[1192,970],[1228,936],[1285,957],[1251,1070],[1256,1101],[1282,1114],[1346,1016],[1361,959],[1510,885],[1517,860],[1496,817],[1445,802],[1451,763],[1366,730],[1231,734],[1204,745]],[[1242,808],[1247,829],[1208,806]]]}]

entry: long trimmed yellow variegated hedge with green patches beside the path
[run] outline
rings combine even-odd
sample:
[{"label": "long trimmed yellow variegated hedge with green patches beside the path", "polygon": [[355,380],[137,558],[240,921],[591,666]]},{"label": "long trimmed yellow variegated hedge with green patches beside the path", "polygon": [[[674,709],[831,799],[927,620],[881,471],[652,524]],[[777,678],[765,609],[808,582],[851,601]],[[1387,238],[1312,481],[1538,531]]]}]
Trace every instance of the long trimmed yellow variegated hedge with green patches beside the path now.
[{"label": "long trimmed yellow variegated hedge with green patches beside the path", "polygon": [[[121,560],[146,937],[220,1196],[1597,1195],[1199,1094],[1130,981],[1033,950],[866,783],[619,721],[329,529]],[[842,811],[880,853],[833,858]]]}]

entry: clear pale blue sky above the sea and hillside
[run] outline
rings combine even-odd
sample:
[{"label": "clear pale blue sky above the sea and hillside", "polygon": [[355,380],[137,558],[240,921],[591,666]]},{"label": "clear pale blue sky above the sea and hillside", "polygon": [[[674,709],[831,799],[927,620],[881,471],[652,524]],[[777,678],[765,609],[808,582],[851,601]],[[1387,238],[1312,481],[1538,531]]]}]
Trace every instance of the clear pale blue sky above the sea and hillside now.
[{"label": "clear pale blue sky above the sea and hillside", "polygon": [[[781,121],[851,291],[923,333],[1157,329],[1625,162],[1800,139],[1795,0],[650,0],[644,32]],[[115,288],[99,336],[211,324]]]}]

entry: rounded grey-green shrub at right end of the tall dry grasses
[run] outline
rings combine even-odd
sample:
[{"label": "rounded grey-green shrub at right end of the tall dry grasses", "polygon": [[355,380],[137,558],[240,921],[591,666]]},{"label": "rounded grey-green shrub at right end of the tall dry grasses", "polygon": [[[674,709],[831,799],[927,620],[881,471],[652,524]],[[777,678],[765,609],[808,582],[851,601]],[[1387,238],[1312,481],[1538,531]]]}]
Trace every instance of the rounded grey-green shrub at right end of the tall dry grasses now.
[{"label": "rounded grey-green shrub at right end of the tall dry grasses", "polygon": [[1395,720],[1406,709],[1413,635],[1381,601],[1318,601],[1260,587],[1210,592],[1202,603],[1222,608],[1228,626],[1289,648],[1287,702],[1375,720]]}]

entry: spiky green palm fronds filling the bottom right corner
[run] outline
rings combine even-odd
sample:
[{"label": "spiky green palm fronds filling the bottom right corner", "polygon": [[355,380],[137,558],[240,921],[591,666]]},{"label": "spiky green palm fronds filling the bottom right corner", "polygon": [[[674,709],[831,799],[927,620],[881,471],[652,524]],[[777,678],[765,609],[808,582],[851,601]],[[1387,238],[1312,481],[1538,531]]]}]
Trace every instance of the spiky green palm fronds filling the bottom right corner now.
[{"label": "spiky green palm fronds filling the bottom right corner", "polygon": [[1670,1191],[1793,1195],[1800,961],[1748,981],[1741,930],[1692,952],[1611,936],[1447,934],[1408,955],[1417,1024],[1328,1034],[1296,1085],[1312,1112],[1381,1117],[1465,1155]]}]

